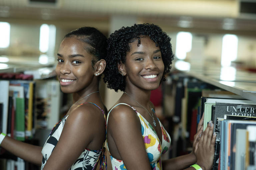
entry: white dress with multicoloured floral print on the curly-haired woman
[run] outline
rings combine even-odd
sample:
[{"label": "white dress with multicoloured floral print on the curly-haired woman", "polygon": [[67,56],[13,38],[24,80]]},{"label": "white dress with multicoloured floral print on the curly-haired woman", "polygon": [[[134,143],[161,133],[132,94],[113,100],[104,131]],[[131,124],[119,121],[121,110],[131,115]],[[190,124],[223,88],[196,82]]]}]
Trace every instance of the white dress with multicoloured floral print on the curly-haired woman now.
[{"label": "white dress with multicoloured floral print on the curly-haired woman", "polygon": [[[126,103],[119,103],[115,105],[113,108],[115,108],[118,105],[127,105]],[[144,139],[145,149],[148,155],[148,159],[150,162],[150,166],[152,170],[162,170],[162,161],[161,161],[161,155],[163,155],[168,148],[171,145],[171,138],[168,132],[165,130],[161,122],[159,121],[159,124],[162,129],[162,144],[157,136],[157,133],[155,129],[151,126],[150,123],[139,113],[134,109],[132,106],[130,106],[138,115],[140,119],[141,124],[141,134]],[[112,109],[113,109],[112,108]],[[112,110],[111,109],[111,110]],[[108,116],[111,112],[111,110],[108,113]],[[107,116],[107,122],[108,122],[108,116]],[[107,143],[108,144],[108,143]],[[111,158],[111,164],[113,170],[125,170],[126,167],[122,160],[118,160],[110,155]]]}]

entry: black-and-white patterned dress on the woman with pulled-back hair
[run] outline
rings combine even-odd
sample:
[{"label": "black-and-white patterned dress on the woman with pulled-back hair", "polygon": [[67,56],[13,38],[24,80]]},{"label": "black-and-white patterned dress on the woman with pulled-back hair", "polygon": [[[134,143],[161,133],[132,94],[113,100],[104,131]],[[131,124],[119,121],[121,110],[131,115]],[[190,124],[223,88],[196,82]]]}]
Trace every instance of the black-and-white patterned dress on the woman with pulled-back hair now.
[{"label": "black-and-white patterned dress on the woman with pulled-back hair", "polygon": [[[91,103],[91,102],[88,102],[88,103]],[[83,103],[83,104],[86,104],[86,103]],[[80,104],[77,107],[79,107],[83,104]],[[91,103],[91,104],[97,106],[94,103]],[[104,115],[105,126],[106,126],[106,117],[105,117],[104,111],[99,106],[97,106],[97,107],[100,109],[100,111]],[[66,117],[62,118],[62,120],[60,120],[59,123],[57,123],[54,126],[54,128],[52,129],[52,131],[50,132],[49,137],[47,138],[47,140],[43,146],[43,149],[41,151],[42,155],[43,155],[41,170],[44,168],[44,165],[46,164],[47,159],[51,156],[53,149],[57,145],[67,118],[68,118],[68,115]],[[100,150],[90,150],[87,148],[82,150],[80,156],[74,162],[74,164],[71,166],[70,170],[85,170],[85,169],[92,170],[96,167],[99,160],[100,160],[100,164],[101,164],[101,168],[102,168],[103,164],[105,165],[105,162],[103,162],[103,159],[105,157],[105,153],[103,151],[104,143]],[[100,159],[100,155],[101,155],[102,151],[103,151],[103,155]]]}]

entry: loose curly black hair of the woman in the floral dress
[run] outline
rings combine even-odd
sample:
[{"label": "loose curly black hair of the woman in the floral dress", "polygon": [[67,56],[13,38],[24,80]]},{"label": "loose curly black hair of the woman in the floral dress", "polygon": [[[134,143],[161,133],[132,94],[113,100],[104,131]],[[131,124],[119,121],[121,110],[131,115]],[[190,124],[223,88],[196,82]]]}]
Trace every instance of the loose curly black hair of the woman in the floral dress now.
[{"label": "loose curly black hair of the woman in the floral dress", "polygon": [[149,36],[151,40],[160,47],[164,63],[164,73],[161,81],[166,81],[165,75],[171,69],[174,54],[172,53],[171,38],[162,29],[154,24],[134,24],[131,27],[122,27],[115,31],[108,38],[106,68],[104,71],[104,82],[107,87],[118,90],[125,90],[125,78],[118,71],[118,63],[125,63],[126,53],[129,52],[129,43],[138,39],[140,44],[141,36]]}]

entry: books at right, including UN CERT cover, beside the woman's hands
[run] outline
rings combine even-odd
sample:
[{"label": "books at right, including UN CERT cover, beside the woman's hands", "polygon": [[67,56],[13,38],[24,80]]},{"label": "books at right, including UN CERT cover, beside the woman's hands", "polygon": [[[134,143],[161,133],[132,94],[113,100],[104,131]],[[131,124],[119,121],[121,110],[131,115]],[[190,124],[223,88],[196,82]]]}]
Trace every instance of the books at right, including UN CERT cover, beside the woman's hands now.
[{"label": "books at right, including UN CERT cover, beside the woman's hands", "polygon": [[256,167],[256,103],[238,97],[201,97],[199,114],[204,112],[204,129],[212,120],[216,132],[212,170],[250,170]]}]

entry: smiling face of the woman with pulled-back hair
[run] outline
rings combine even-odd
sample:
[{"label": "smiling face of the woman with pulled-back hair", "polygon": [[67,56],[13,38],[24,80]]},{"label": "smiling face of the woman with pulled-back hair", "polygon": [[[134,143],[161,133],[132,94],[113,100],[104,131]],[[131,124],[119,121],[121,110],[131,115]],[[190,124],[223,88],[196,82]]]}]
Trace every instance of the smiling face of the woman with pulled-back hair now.
[{"label": "smiling face of the woman with pulled-back hair", "polygon": [[76,37],[64,38],[60,44],[55,71],[64,93],[81,91],[93,79],[93,56],[85,50],[86,45]]}]

